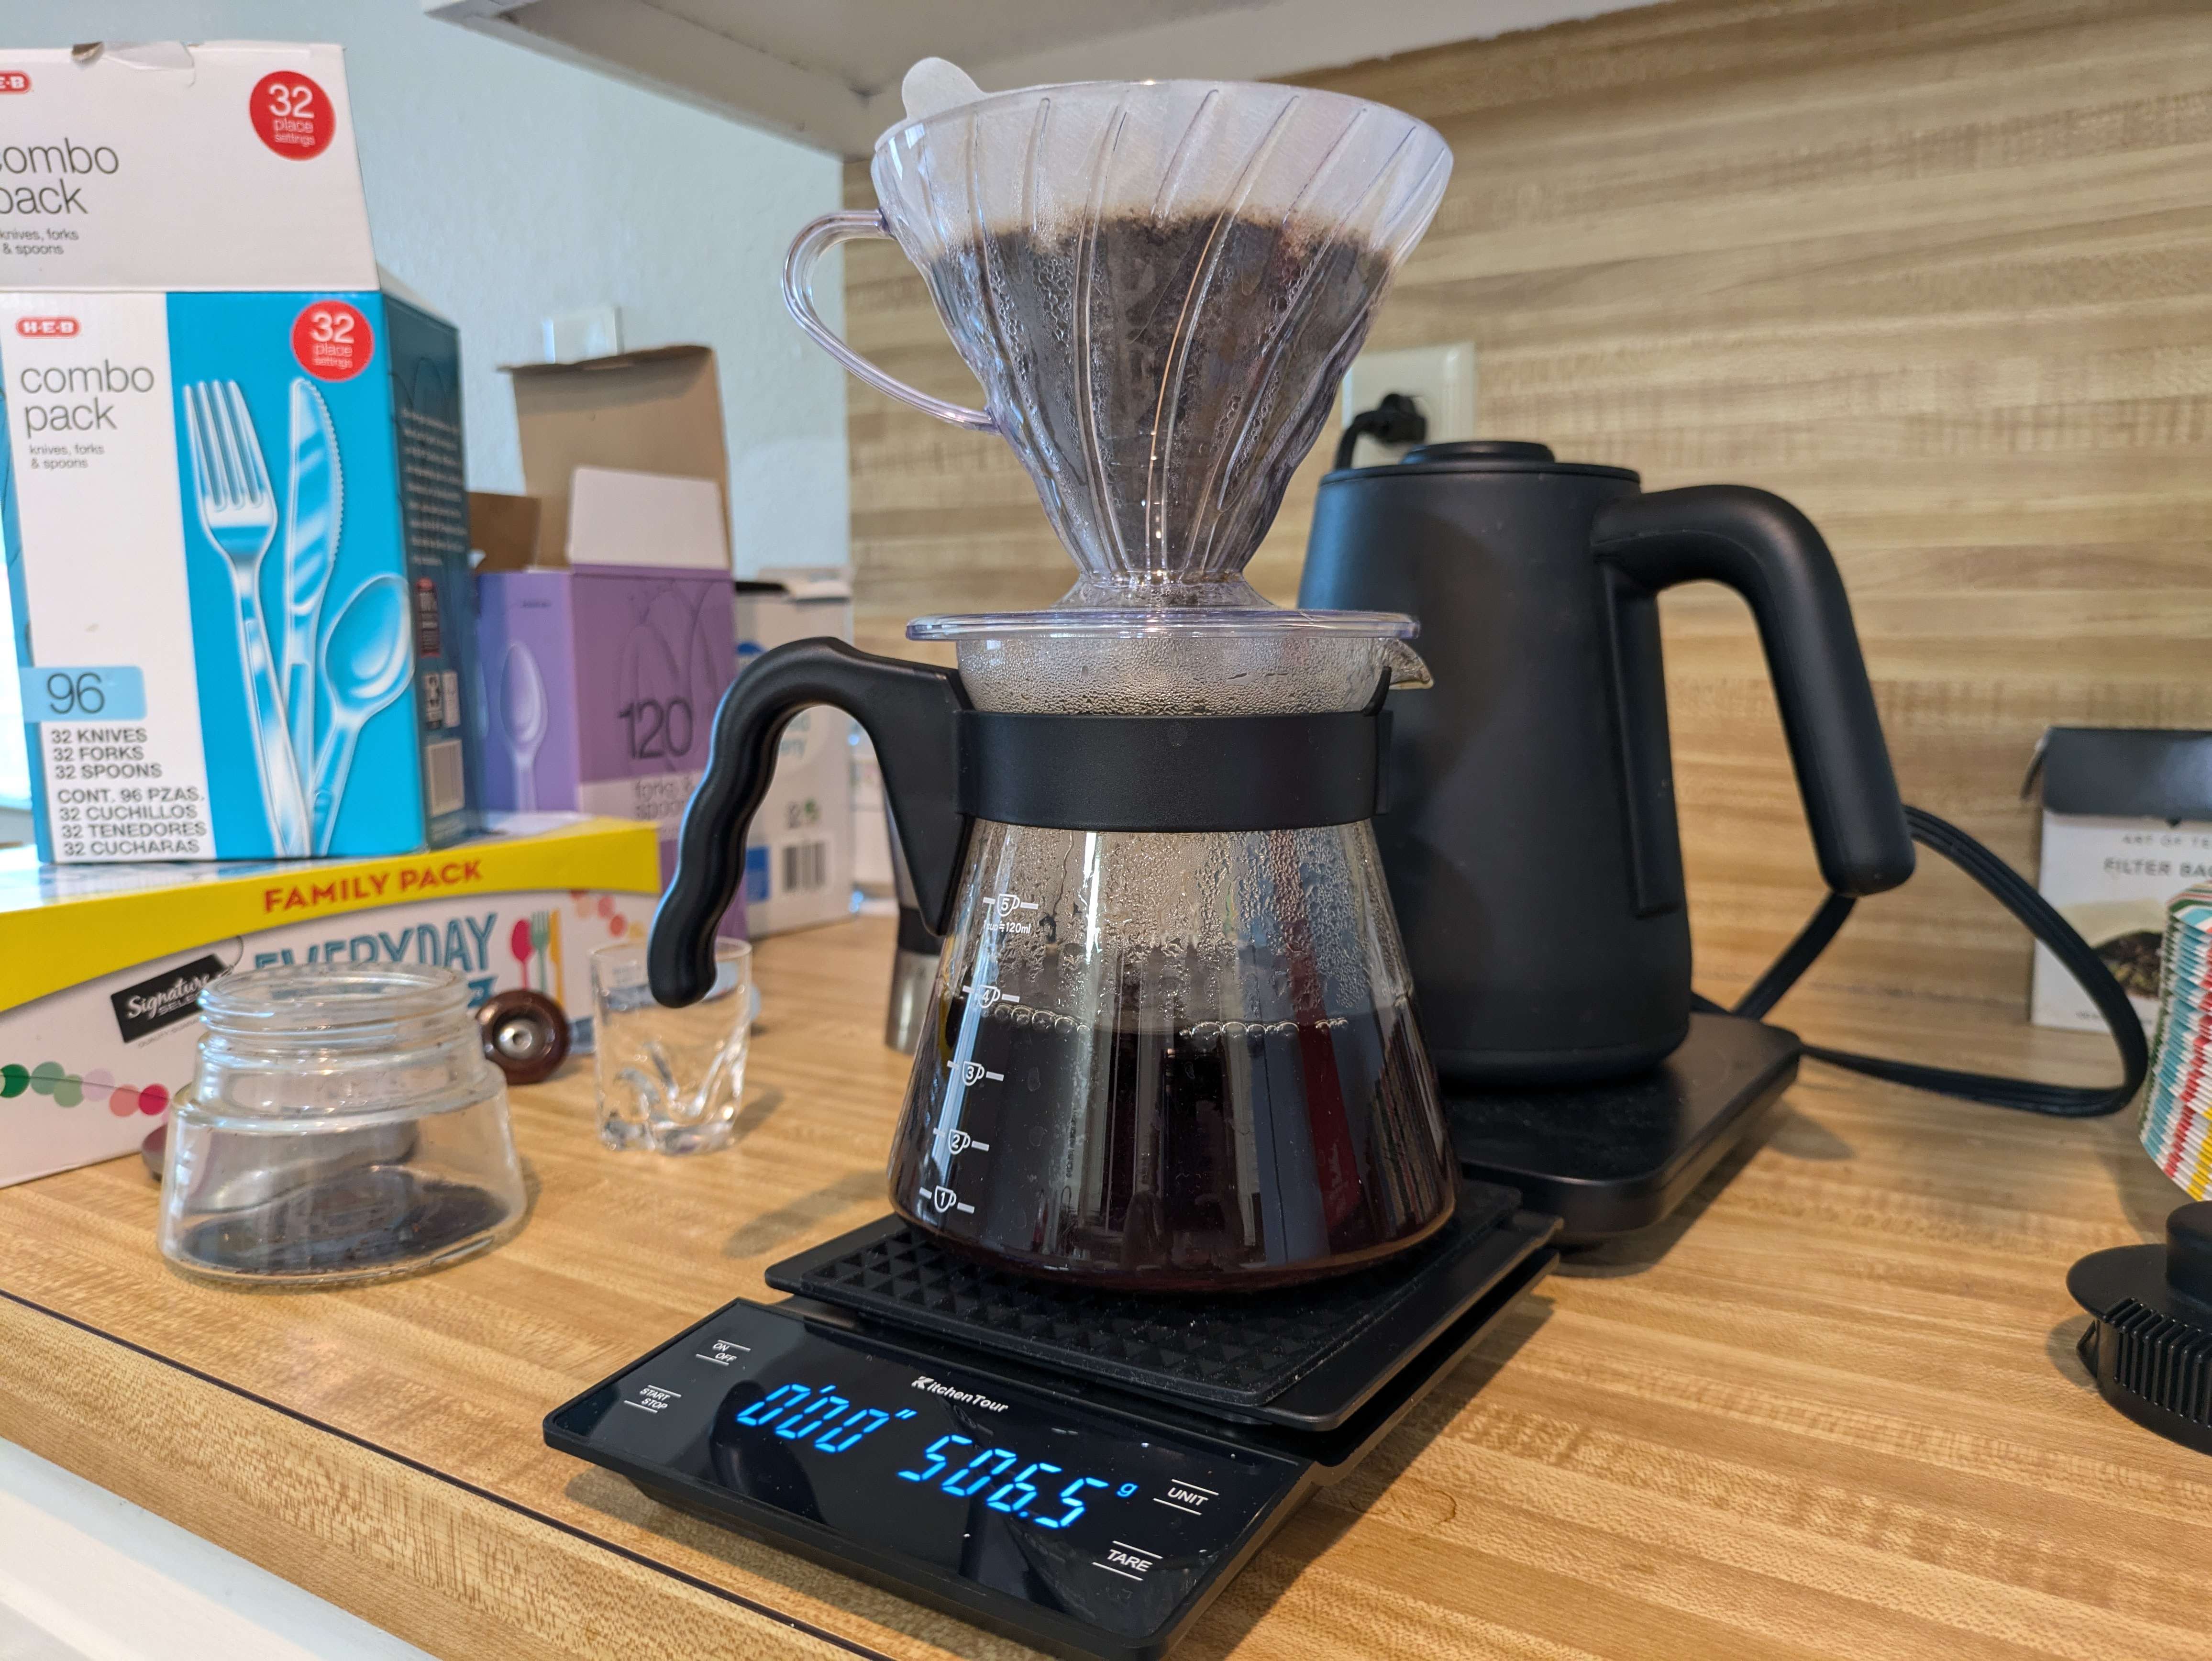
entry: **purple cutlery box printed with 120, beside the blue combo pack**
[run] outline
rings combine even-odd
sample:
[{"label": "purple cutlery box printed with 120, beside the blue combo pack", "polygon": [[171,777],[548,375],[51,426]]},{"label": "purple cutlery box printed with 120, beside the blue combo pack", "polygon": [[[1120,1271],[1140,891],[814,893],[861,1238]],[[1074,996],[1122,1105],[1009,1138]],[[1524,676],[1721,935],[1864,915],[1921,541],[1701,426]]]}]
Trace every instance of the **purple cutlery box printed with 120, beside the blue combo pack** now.
[{"label": "purple cutlery box printed with 120, beside the blue combo pack", "polygon": [[666,880],[737,677],[728,573],[575,566],[487,571],[476,584],[484,805],[650,818]]}]

